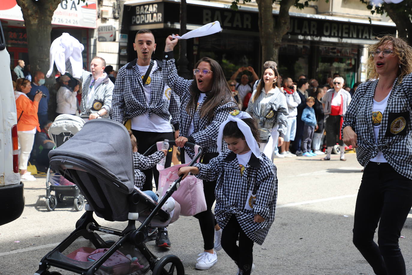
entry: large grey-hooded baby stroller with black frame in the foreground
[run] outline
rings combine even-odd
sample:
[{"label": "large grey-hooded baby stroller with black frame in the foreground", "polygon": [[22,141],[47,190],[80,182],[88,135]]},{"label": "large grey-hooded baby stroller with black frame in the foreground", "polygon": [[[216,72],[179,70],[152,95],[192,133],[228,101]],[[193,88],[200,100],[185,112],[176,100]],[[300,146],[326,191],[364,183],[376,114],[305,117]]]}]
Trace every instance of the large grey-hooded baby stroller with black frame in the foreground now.
[{"label": "large grey-hooded baby stroller with black frame in the foreground", "polygon": [[[190,165],[200,155],[201,149]],[[171,184],[158,204],[135,188],[130,136],[121,123],[109,119],[91,120],[73,138],[51,150],[49,157],[52,169],[75,183],[87,204],[76,229],[43,257],[35,275],[60,275],[50,272],[51,266],[84,275],[142,275],[149,270],[154,275],[185,274],[177,256],[166,255],[159,259],[143,242],[147,226],[166,226],[171,222],[171,212],[166,212],[162,206],[177,190],[182,177]],[[94,213],[106,221],[128,221],[128,224],[121,230],[103,227],[94,219]],[[136,220],[141,222],[137,229]],[[105,233],[105,236],[97,233]],[[103,240],[107,235],[118,239]],[[73,257],[74,251],[80,249],[73,250],[73,245],[80,245],[82,240],[104,251],[82,260],[87,250],[83,247],[82,254]]]}]

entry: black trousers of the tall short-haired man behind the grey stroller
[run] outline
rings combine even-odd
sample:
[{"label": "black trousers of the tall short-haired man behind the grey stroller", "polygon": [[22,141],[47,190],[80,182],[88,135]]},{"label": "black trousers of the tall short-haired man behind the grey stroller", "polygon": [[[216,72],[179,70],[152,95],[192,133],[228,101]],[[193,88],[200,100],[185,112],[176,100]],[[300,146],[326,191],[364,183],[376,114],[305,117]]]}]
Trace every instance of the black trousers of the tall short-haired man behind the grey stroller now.
[{"label": "black trousers of the tall short-haired man behind the grey stroller", "polygon": [[[173,137],[172,132],[167,132],[167,133],[156,133],[156,132],[143,132],[143,131],[137,131],[137,130],[131,130],[133,132],[133,135],[136,136],[137,140],[137,151],[140,154],[144,154],[147,149],[150,148],[153,144],[155,144],[157,141],[164,141],[165,139],[169,139],[169,141],[175,140]],[[169,147],[172,148],[172,146]],[[153,150],[152,153],[155,153],[157,149]],[[172,154],[168,153],[166,156],[166,163],[164,165],[165,168],[170,167],[172,161]],[[152,179],[153,176],[155,177],[155,184],[156,184],[156,190],[157,186],[159,185],[159,172],[156,169],[156,165],[150,169],[142,170],[143,174],[146,176],[145,183],[143,183],[143,191],[147,190],[152,190]]]}]

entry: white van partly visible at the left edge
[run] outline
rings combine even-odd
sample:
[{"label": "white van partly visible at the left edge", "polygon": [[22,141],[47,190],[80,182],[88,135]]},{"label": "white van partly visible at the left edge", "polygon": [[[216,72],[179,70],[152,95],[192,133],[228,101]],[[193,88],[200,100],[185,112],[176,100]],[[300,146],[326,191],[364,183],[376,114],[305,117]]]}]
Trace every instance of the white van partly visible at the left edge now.
[{"label": "white van partly visible at the left edge", "polygon": [[0,226],[19,218],[24,209],[24,186],[20,181],[17,111],[10,55],[0,22]]}]

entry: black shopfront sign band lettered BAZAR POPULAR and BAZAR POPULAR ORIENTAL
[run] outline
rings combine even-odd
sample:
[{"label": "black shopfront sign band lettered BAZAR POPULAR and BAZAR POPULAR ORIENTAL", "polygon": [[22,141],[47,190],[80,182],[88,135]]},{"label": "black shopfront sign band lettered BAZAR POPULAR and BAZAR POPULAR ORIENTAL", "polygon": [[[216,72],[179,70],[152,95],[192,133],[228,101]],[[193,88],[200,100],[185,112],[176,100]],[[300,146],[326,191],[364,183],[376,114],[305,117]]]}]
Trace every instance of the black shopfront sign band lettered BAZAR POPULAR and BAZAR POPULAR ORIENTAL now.
[{"label": "black shopfront sign band lettered BAZAR POPULAR and BAZAR POPULAR ORIENTAL", "polygon": [[[126,10],[126,9],[125,9]],[[168,12],[165,14],[164,11]],[[158,2],[144,4],[130,9],[131,25],[145,24],[179,24],[179,4],[175,2]],[[274,15],[275,21],[278,16]],[[187,5],[187,24],[205,25],[219,21],[223,29],[236,31],[259,32],[258,13],[233,11],[200,5]],[[276,23],[275,23],[276,24]],[[395,34],[394,26],[377,26],[353,22],[332,21],[325,19],[290,17],[289,35],[312,37],[372,39],[379,34]]]}]

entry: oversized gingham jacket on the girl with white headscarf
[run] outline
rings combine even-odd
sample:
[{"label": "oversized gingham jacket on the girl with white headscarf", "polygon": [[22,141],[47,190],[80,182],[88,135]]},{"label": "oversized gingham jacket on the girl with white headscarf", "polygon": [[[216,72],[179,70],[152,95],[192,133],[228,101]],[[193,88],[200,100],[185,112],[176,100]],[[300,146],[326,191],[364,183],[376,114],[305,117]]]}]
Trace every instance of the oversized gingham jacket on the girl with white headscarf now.
[{"label": "oversized gingham jacket on the girl with white headscarf", "polygon": [[[255,155],[240,173],[236,154],[230,150],[223,151],[207,165],[197,163],[199,168],[196,176],[205,181],[217,180],[215,195],[215,218],[220,227],[225,228],[232,215],[236,215],[240,227],[246,235],[259,245],[262,245],[275,218],[278,179],[276,166],[263,153],[262,159]],[[248,200],[248,192],[256,195],[253,210],[244,208]],[[265,221],[255,223],[254,215],[262,216]]]}]

